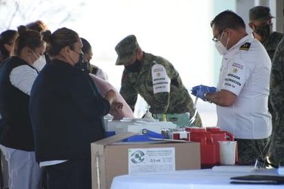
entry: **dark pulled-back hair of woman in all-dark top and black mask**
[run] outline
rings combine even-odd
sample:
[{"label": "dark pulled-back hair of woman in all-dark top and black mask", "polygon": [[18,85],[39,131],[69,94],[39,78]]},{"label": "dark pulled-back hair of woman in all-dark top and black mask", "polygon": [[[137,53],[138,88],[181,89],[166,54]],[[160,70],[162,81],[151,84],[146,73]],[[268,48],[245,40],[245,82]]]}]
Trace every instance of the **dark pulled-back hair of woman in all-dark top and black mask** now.
[{"label": "dark pulled-back hair of woman in all-dark top and black mask", "polygon": [[60,50],[70,46],[74,50],[74,43],[79,41],[79,34],[68,28],[59,28],[51,33],[49,30],[42,33],[43,40],[47,42],[48,54],[52,57],[59,55]]}]

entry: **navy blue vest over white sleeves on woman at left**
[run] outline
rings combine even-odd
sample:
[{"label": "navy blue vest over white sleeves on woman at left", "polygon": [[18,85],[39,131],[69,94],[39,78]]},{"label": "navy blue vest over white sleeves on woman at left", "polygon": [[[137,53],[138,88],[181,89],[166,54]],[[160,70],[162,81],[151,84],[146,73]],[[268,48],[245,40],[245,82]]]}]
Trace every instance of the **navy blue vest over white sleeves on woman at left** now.
[{"label": "navy blue vest over white sleeves on woman at left", "polygon": [[10,57],[3,63],[0,71],[0,114],[3,126],[0,143],[8,148],[34,151],[29,114],[30,96],[12,86],[10,82],[12,69],[22,65],[28,63],[19,57]]}]

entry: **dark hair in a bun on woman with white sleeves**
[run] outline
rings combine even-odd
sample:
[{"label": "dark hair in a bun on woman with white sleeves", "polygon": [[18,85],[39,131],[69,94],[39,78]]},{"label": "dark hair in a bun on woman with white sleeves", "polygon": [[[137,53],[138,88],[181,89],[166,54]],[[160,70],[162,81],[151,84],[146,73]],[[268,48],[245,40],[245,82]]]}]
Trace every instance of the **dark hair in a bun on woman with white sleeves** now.
[{"label": "dark hair in a bun on woman with white sleeves", "polygon": [[18,27],[19,37],[16,39],[14,46],[14,54],[19,56],[21,50],[28,46],[32,50],[41,46],[41,35],[36,30],[29,30],[26,26]]}]

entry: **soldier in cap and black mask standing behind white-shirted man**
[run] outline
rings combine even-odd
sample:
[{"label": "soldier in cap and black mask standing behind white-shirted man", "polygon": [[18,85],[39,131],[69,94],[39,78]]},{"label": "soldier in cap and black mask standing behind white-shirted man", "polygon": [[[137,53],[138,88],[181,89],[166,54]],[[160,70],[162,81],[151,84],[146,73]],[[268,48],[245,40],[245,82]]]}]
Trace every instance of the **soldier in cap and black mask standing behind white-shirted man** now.
[{"label": "soldier in cap and black mask standing behind white-shirted man", "polygon": [[[276,47],[278,46],[279,41],[281,41],[283,34],[280,32],[272,32],[272,15],[270,14],[270,8],[265,6],[256,6],[250,9],[249,12],[250,23],[249,26],[253,30],[252,34],[254,37],[261,41],[265,49],[267,50],[268,55],[270,56],[271,61],[273,60],[274,52]],[[274,73],[272,72],[272,77]],[[273,92],[274,88],[270,88],[270,95]],[[276,113],[275,110],[272,108],[271,101],[268,101],[268,108],[272,115],[272,136],[274,135],[274,130],[276,130],[275,117]],[[278,132],[278,131],[277,131]],[[276,134],[278,135],[278,134]],[[283,135],[284,137],[284,135]],[[273,144],[270,147],[271,149],[268,152],[268,161],[270,157],[273,155]]]}]

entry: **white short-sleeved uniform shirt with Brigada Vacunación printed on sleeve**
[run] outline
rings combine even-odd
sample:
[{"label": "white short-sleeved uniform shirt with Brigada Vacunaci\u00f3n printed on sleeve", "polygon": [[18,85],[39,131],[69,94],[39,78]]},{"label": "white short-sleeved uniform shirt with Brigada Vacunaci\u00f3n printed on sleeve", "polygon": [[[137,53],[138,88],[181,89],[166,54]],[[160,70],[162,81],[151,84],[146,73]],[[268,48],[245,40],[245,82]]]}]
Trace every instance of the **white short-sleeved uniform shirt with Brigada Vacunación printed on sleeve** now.
[{"label": "white short-sleeved uniform shirt with Brigada Vacunaci\u00f3n printed on sleeve", "polygon": [[271,61],[262,44],[247,35],[223,56],[217,91],[229,90],[232,106],[216,106],[217,126],[236,139],[264,139],[271,135],[268,112]]}]

